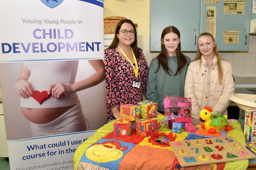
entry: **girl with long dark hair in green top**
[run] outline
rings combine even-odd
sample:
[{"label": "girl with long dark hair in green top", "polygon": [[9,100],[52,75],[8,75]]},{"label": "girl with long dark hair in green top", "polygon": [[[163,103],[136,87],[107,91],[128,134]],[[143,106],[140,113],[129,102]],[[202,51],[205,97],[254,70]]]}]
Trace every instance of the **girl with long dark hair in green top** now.
[{"label": "girl with long dark hair in green top", "polygon": [[181,53],[180,31],[169,26],[161,35],[161,52],[152,59],[147,84],[147,100],[157,103],[157,109],[163,112],[163,100],[167,96],[184,95],[184,82],[189,57]]}]

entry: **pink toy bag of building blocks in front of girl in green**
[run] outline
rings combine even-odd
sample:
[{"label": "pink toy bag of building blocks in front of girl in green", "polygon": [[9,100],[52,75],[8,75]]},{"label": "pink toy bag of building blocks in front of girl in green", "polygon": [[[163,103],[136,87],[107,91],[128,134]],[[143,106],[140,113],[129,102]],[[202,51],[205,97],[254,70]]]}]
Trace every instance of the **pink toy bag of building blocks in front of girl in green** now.
[{"label": "pink toy bag of building blocks in front of girl in green", "polygon": [[168,120],[174,121],[175,117],[190,117],[191,98],[182,98],[179,96],[165,96],[164,115],[166,125]]}]

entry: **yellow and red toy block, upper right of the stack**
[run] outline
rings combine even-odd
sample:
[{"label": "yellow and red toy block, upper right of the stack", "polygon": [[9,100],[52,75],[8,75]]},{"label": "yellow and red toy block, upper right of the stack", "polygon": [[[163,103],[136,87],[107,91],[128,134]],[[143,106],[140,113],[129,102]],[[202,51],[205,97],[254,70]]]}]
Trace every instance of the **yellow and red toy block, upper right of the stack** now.
[{"label": "yellow and red toy block, upper right of the stack", "polygon": [[138,103],[140,106],[140,117],[148,119],[156,116],[157,114],[157,104],[156,102],[151,102],[149,100],[144,100]]}]

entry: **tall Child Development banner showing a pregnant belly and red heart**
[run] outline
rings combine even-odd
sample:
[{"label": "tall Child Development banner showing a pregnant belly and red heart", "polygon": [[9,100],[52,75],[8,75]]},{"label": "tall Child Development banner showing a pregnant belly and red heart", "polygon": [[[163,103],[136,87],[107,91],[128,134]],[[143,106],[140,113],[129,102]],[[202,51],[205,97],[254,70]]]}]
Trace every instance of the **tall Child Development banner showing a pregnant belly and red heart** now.
[{"label": "tall Child Development banner showing a pregnant belly and red heart", "polygon": [[0,16],[10,168],[71,170],[107,122],[103,0],[0,0]]}]

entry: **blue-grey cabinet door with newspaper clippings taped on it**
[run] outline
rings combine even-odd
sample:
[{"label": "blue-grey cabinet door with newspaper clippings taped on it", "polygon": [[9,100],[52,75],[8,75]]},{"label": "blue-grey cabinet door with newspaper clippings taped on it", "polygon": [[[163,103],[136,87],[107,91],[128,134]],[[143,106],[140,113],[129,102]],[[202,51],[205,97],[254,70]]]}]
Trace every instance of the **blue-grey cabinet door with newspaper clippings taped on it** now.
[{"label": "blue-grey cabinet door with newspaper clippings taped on it", "polygon": [[[204,4],[204,0],[201,0],[200,33],[206,32],[206,10],[208,6],[216,6],[215,41],[218,51],[248,51],[251,1],[245,0],[244,14],[224,14],[224,0],[220,0],[220,4]],[[239,31],[239,43],[223,43],[223,31]]]}]

